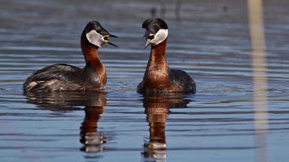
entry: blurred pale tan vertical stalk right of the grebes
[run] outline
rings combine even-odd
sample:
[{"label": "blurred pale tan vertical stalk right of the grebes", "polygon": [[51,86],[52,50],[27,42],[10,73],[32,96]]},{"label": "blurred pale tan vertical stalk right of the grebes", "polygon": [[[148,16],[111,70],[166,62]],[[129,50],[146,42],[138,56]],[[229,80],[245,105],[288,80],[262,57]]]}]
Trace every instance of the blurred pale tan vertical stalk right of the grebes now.
[{"label": "blurred pale tan vertical stalk right of the grebes", "polygon": [[248,17],[253,54],[254,109],[256,132],[256,161],[267,161],[266,130],[267,114],[267,73],[266,43],[262,0],[248,0]]}]

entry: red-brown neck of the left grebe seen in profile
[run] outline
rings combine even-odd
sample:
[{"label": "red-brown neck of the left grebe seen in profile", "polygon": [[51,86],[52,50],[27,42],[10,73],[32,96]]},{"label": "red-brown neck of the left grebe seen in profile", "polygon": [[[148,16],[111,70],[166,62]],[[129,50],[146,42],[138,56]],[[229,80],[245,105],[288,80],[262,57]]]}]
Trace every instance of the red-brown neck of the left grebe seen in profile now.
[{"label": "red-brown neck of the left grebe seen in profile", "polygon": [[85,56],[86,67],[93,67],[94,71],[105,71],[105,66],[98,56],[98,47],[88,42],[85,33],[81,36],[81,49]]}]

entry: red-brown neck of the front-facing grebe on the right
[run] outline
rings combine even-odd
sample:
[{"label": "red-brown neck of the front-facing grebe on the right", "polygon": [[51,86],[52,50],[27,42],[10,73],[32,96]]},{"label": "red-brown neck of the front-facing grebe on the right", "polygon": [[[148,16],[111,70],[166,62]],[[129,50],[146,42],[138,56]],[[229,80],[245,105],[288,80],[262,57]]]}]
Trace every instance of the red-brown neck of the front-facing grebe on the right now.
[{"label": "red-brown neck of the front-facing grebe on the right", "polygon": [[169,66],[166,61],[167,38],[158,45],[151,45],[151,55],[147,63],[146,73],[150,71],[158,71],[167,73]]}]

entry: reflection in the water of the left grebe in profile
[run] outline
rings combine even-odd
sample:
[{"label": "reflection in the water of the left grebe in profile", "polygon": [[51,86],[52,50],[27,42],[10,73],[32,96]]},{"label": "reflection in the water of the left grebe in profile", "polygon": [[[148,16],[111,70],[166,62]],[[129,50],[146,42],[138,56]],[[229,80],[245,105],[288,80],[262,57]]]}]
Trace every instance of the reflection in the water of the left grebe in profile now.
[{"label": "reflection in the water of the left grebe in profile", "polygon": [[[104,132],[98,131],[98,121],[105,112],[105,91],[29,93],[25,95],[28,96],[28,103],[54,112],[80,111],[83,110],[80,106],[84,106],[85,117],[79,133],[83,146],[80,150],[89,153],[106,150],[107,136]],[[93,156],[93,158],[99,158],[99,156]]]}]

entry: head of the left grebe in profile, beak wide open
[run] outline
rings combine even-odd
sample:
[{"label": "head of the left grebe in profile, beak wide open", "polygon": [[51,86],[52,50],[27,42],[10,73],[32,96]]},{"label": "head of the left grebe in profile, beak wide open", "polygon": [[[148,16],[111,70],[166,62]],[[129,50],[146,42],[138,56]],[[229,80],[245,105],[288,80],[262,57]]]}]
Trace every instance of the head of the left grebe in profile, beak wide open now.
[{"label": "head of the left grebe in profile, beak wide open", "polygon": [[92,43],[93,45],[101,47],[105,43],[108,43],[109,45],[117,47],[113,43],[110,43],[109,40],[107,40],[107,37],[118,38],[118,36],[109,34],[109,32],[98,23],[98,21],[90,21],[87,23],[83,32],[85,32],[85,36],[89,43]]}]

